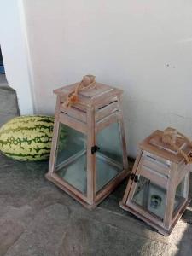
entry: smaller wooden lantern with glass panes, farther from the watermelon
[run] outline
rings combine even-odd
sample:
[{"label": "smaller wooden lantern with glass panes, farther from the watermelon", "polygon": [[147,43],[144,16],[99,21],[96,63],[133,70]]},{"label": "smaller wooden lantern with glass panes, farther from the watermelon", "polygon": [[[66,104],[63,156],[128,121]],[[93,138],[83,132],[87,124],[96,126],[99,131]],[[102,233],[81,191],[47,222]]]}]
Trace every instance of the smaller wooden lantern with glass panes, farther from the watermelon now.
[{"label": "smaller wooden lantern with glass panes, farther from the watermelon", "polygon": [[[182,154],[163,143],[163,134],[163,131],[154,131],[140,144],[119,205],[167,236],[189,205],[190,165]],[[175,148],[179,151],[182,148],[184,154],[189,155],[192,148],[186,140],[177,136],[175,139]]]}]

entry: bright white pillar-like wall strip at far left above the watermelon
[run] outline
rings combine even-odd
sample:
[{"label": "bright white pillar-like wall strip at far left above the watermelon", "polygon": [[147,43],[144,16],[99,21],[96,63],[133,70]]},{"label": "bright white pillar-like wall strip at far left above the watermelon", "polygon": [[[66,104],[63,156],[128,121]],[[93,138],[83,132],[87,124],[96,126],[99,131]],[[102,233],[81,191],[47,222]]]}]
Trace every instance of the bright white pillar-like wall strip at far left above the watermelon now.
[{"label": "bright white pillar-like wall strip at far left above the watermelon", "polygon": [[33,113],[32,69],[25,15],[20,0],[0,0],[0,45],[9,85],[17,92],[21,114]]}]

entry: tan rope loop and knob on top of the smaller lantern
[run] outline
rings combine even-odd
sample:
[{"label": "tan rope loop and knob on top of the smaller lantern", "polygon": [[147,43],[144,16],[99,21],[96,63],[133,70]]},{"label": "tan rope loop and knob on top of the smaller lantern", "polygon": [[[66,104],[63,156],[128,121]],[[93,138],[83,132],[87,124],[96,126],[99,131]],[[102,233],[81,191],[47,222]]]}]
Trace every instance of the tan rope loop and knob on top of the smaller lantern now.
[{"label": "tan rope loop and knob on top of the smaller lantern", "polygon": [[183,135],[183,133],[178,132],[177,130],[175,130],[173,128],[166,128],[166,130],[163,132],[162,142],[167,143],[170,146],[172,146],[172,148],[177,150],[177,152],[183,156],[183,158],[185,159],[185,162],[187,164],[191,164],[192,163],[192,154],[191,153],[186,154],[183,151],[183,149],[177,147],[177,145],[176,145],[177,136],[183,137],[185,139],[186,143],[189,143],[189,146],[192,148],[192,142],[190,141],[190,139],[188,137],[186,137],[185,135]]}]

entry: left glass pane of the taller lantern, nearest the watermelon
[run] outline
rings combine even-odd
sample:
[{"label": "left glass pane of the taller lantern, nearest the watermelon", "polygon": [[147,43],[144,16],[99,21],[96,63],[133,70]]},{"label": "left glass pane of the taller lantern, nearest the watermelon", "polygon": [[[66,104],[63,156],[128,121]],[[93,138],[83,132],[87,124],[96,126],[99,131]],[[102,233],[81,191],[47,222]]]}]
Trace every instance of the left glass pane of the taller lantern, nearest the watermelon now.
[{"label": "left glass pane of the taller lantern, nearest the watermelon", "polygon": [[86,194],[86,137],[73,128],[60,124],[55,172],[74,188]]}]

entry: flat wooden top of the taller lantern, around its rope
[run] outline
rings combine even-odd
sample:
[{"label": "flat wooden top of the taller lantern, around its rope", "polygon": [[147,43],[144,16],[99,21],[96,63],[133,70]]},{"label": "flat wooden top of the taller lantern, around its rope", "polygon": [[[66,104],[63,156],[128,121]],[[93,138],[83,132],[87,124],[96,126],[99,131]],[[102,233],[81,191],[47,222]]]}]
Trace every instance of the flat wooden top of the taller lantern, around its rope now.
[{"label": "flat wooden top of the taller lantern, around its rope", "polygon": [[[65,101],[67,100],[67,96],[73,92],[78,85],[79,83],[66,85],[54,90],[54,93],[57,96],[61,96],[63,101]],[[113,96],[120,96],[122,93],[123,90],[114,88],[107,84],[96,83],[94,88],[79,91],[78,103],[91,107],[101,103],[102,101],[106,101],[108,98],[112,98]]]}]

